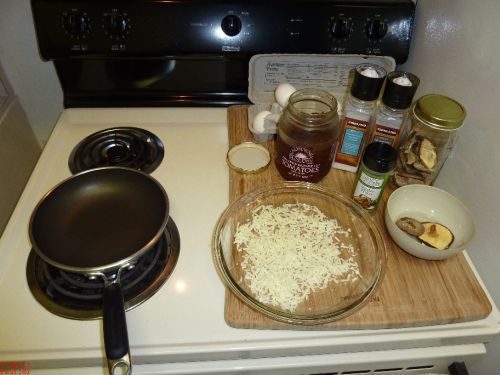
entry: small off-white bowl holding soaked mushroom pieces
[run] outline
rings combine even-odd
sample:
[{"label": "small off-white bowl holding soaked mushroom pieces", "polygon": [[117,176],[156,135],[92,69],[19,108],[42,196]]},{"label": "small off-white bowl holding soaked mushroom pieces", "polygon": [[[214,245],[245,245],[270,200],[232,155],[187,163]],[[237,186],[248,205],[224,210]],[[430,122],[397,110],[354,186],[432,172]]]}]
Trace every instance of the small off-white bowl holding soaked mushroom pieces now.
[{"label": "small off-white bowl holding soaked mushroom pieces", "polygon": [[[402,231],[396,221],[412,217],[448,227],[454,235],[451,246],[438,250]],[[452,257],[466,249],[475,236],[474,219],[467,207],[450,193],[427,185],[407,185],[396,189],[387,200],[385,225],[390,236],[404,251],[429,260]]]}]

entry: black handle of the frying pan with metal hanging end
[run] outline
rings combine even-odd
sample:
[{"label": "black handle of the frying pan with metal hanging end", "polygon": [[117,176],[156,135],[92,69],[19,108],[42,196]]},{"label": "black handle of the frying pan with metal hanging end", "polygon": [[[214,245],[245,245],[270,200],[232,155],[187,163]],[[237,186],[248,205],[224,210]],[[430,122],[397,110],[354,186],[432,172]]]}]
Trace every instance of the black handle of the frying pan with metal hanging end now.
[{"label": "black handle of the frying pan with metal hanging end", "polygon": [[123,305],[123,294],[119,282],[106,283],[103,293],[103,328],[104,346],[108,362],[109,374],[115,369],[120,374],[129,375],[132,372],[130,361],[127,321]]}]

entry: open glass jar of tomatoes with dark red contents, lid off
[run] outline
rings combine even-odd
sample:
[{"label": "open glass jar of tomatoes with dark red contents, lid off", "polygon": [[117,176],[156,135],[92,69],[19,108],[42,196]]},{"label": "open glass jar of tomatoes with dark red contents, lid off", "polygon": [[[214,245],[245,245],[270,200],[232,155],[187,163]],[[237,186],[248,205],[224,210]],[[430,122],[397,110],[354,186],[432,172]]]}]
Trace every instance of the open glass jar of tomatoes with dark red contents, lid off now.
[{"label": "open glass jar of tomatoes with dark red contents, lid off", "polygon": [[318,182],[331,169],[339,134],[337,100],[307,88],[294,92],[280,117],[276,168],[289,181]]}]

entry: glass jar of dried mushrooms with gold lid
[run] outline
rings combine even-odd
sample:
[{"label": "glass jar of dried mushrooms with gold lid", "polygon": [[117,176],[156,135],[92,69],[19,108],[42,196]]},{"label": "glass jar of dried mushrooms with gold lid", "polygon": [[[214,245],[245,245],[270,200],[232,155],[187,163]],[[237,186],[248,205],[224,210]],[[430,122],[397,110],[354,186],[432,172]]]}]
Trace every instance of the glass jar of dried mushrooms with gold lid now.
[{"label": "glass jar of dried mushrooms with gold lid", "polygon": [[420,97],[404,126],[394,185],[432,185],[456,143],[465,116],[465,108],[452,98],[440,94]]}]

